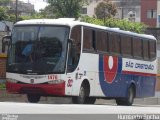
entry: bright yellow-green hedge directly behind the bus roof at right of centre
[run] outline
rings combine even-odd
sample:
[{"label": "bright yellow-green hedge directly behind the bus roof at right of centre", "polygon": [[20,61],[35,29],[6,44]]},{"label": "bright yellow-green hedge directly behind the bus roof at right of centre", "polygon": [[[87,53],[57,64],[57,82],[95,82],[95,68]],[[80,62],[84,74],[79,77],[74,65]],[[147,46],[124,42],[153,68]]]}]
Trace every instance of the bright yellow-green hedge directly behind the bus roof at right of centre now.
[{"label": "bright yellow-green hedge directly behind the bus roof at right of centre", "polygon": [[92,23],[92,24],[97,24],[97,25],[102,25],[106,27],[111,27],[111,28],[120,28],[121,30],[132,31],[136,33],[144,33],[147,28],[147,26],[143,23],[130,22],[127,20],[119,20],[119,19],[114,19],[114,18],[108,18],[104,21],[101,19],[83,16],[81,18],[81,21]]}]

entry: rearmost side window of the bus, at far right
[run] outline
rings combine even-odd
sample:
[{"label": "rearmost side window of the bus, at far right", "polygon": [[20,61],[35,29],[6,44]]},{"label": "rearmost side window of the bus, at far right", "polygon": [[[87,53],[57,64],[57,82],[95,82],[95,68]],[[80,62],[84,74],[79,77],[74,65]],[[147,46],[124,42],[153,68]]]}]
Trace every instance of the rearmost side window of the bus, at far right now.
[{"label": "rearmost side window of the bus, at far right", "polygon": [[149,41],[149,51],[150,59],[156,58],[156,41]]}]

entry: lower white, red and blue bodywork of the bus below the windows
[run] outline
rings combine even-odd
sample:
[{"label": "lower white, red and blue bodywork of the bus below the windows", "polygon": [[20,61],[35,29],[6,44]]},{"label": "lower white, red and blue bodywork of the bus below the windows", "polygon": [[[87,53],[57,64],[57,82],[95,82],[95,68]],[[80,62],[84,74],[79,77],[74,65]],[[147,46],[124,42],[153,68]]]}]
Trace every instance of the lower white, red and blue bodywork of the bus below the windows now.
[{"label": "lower white, red and blue bodywork of the bus below the windows", "polygon": [[[127,61],[133,63],[130,69],[127,68]],[[146,70],[147,68],[144,70],[142,68],[139,69],[139,67],[134,68],[137,63],[149,64],[152,67],[148,68],[148,70]],[[21,75],[7,73],[7,79],[16,78],[17,81],[23,83],[23,85],[8,83],[7,89],[9,92],[16,92],[17,90],[16,93],[21,93],[20,89],[22,88],[41,88],[42,91],[45,91],[48,87],[48,91],[52,91],[53,89],[64,91],[61,94],[58,92],[46,92],[48,95],[77,96],[82,82],[88,80],[90,84],[90,96],[125,97],[127,88],[131,84],[134,84],[136,97],[150,97],[154,96],[155,91],[155,69],[157,69],[155,63],[156,61],[144,62],[114,56],[82,53],[79,65],[72,73],[61,75]],[[56,79],[61,79],[64,82],[56,85],[42,84]],[[34,83],[32,80],[34,80]],[[14,88],[17,89],[13,90],[12,85],[16,86]],[[46,87],[43,88],[42,85]],[[50,86],[52,87],[50,88]]]}]

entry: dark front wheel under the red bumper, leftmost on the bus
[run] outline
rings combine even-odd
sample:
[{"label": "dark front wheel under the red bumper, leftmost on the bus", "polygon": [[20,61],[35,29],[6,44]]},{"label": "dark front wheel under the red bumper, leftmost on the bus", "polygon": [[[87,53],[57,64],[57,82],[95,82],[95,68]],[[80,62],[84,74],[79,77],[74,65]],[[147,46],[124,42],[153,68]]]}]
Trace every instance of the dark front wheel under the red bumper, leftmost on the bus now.
[{"label": "dark front wheel under the red bumper, leftmost on the bus", "polygon": [[37,103],[40,100],[40,95],[35,95],[35,94],[27,94],[27,99],[28,102],[30,103]]}]

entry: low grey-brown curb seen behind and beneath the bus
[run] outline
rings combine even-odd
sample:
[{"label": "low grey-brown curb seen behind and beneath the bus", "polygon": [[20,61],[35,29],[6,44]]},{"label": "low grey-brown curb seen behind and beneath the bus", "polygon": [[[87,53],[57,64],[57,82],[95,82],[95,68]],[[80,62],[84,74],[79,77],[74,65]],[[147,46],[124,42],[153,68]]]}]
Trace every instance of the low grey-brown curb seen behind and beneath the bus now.
[{"label": "low grey-brown curb seen behind and beneath the bus", "polygon": [[[0,102],[28,102],[25,95],[7,94],[5,90],[0,90]],[[60,97],[41,97],[40,103],[48,104],[71,104],[70,98]],[[97,99],[96,104],[112,104],[116,105],[115,100]],[[135,99],[134,105],[160,105],[158,96],[152,98]]]}]

